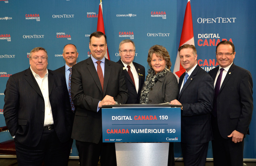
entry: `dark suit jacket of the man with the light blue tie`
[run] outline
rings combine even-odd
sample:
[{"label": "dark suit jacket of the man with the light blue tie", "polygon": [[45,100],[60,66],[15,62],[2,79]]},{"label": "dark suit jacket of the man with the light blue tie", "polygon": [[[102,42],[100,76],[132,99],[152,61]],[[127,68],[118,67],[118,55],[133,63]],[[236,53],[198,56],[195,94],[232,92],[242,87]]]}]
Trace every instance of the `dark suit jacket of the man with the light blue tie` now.
[{"label": "dark suit jacket of the man with the light blue tie", "polygon": [[[179,80],[179,90],[183,73]],[[202,144],[212,140],[210,114],[214,98],[214,82],[199,65],[189,76],[178,95],[181,111],[181,142]]]}]

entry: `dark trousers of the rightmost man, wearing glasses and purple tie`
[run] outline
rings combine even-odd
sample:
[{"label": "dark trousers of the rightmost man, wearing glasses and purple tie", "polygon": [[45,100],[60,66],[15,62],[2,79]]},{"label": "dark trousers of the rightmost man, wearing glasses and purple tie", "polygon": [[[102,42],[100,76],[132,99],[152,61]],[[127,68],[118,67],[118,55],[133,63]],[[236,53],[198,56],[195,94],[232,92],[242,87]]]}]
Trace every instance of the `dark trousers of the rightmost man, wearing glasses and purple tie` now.
[{"label": "dark trousers of the rightmost man, wearing glasses and purple tie", "polygon": [[214,118],[212,116],[211,123],[214,138],[212,141],[214,166],[242,166],[244,158],[244,140],[239,143],[234,143],[232,139],[224,139],[219,133],[217,117]]}]

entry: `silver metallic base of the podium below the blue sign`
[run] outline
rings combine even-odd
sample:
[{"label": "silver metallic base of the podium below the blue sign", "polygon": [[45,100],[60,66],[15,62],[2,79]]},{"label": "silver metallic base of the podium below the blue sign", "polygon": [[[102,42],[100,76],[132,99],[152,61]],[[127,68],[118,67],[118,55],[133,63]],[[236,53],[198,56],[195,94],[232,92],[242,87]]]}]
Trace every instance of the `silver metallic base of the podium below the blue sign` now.
[{"label": "silver metallic base of the podium below the blue sign", "polygon": [[115,143],[117,166],[167,166],[169,143]]}]

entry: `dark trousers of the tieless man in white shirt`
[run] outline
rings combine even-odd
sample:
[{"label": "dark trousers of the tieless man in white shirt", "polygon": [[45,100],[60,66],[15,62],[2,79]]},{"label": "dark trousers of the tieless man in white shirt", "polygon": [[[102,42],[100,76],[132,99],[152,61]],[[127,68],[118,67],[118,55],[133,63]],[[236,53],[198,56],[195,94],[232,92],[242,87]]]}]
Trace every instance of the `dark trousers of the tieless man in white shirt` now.
[{"label": "dark trousers of the tieless man in white shirt", "polygon": [[67,165],[67,150],[69,142],[61,143],[55,129],[43,130],[41,139],[36,147],[28,147],[15,139],[15,148],[19,166]]}]

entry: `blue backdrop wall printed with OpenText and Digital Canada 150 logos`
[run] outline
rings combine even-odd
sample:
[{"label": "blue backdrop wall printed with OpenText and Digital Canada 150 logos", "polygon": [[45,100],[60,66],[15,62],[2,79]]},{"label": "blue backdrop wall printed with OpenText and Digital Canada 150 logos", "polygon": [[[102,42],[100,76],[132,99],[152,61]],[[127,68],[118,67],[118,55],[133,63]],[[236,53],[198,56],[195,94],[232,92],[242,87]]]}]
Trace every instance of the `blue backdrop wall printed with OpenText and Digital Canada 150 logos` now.
[{"label": "blue backdrop wall printed with OpenText and Digital Canada 150 logos", "polygon": [[[102,3],[110,60],[120,59],[118,45],[128,38],[136,45],[135,62],[148,69],[148,49],[155,44],[163,45],[169,51],[173,70],[187,0],[103,0]],[[29,67],[30,50],[44,47],[49,56],[48,69],[53,70],[64,65],[63,46],[69,43],[78,48],[78,62],[87,59],[89,35],[97,29],[98,8],[99,0],[0,1],[0,126],[5,125],[6,82],[11,74]],[[216,45],[227,39],[236,47],[234,63],[251,71],[255,82],[255,56],[251,55],[256,52],[255,8],[254,0],[191,0],[197,59],[203,69],[209,71],[217,66]],[[251,135],[245,138],[244,158],[256,159],[255,131],[253,113]],[[9,132],[0,133],[0,141],[10,138]],[[78,156],[75,146],[71,155]],[[180,145],[176,143],[175,157],[180,155]],[[207,158],[212,158],[210,144]]]}]

